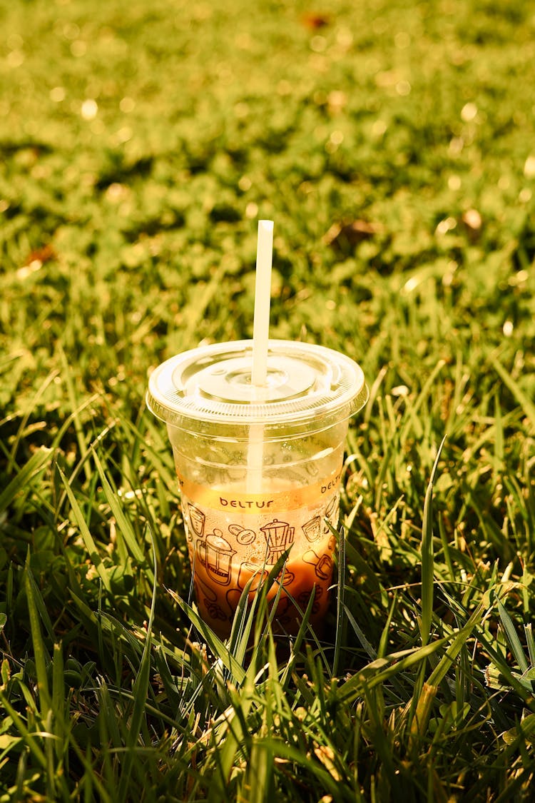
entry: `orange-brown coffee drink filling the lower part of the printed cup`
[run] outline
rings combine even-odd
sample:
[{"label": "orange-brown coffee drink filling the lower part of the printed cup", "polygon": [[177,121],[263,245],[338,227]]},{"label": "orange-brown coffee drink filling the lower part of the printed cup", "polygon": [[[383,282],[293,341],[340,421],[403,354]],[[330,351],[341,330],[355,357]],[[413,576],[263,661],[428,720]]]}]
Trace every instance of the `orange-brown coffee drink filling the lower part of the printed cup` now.
[{"label": "orange-brown coffee drink filling the lower part of the printed cup", "polygon": [[233,487],[206,489],[179,477],[182,513],[193,566],[193,585],[202,618],[228,634],[247,583],[249,599],[279,558],[282,572],[267,593],[278,595],[275,618],[281,630],[298,630],[301,613],[314,596],[310,623],[326,613],[338,522],[340,471],[322,482],[292,487],[272,482],[262,494]]}]

